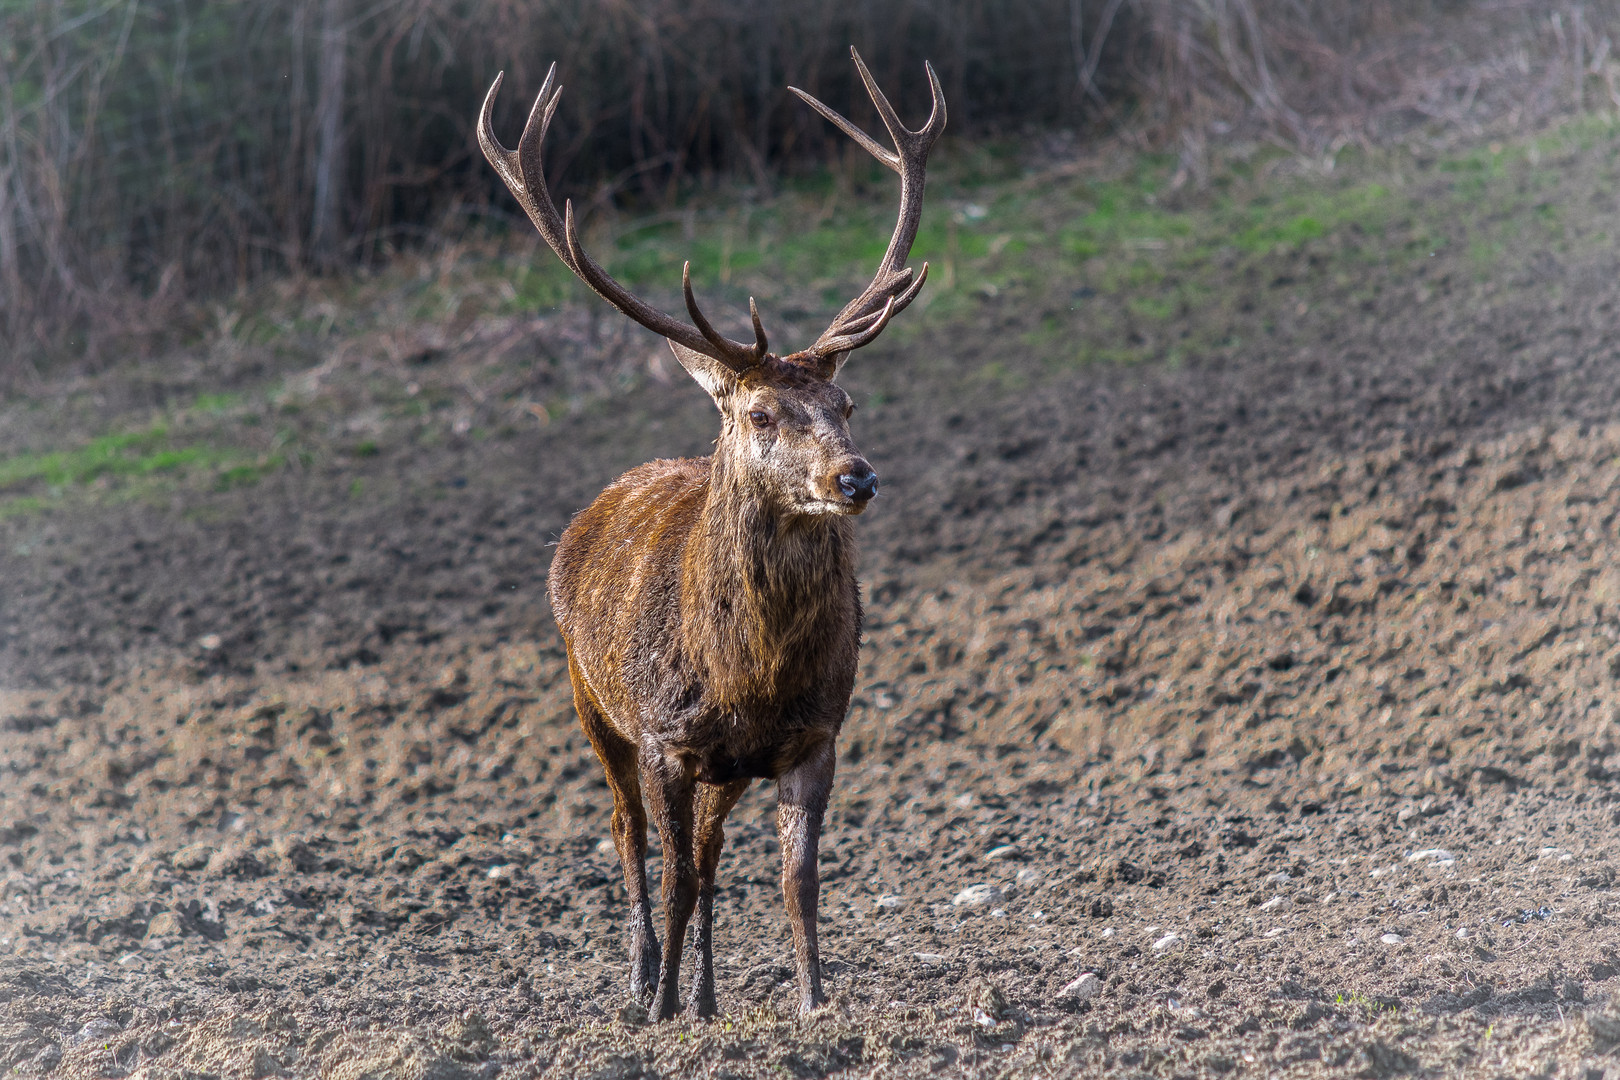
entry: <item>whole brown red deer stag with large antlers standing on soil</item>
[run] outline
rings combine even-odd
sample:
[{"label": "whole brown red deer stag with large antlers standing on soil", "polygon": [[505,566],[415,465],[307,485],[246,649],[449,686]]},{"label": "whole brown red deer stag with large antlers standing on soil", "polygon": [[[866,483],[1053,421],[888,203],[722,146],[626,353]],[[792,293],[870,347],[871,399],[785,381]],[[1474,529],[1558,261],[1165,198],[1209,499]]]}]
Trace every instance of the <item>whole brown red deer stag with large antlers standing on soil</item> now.
[{"label": "whole brown red deer stag with large antlers standing on soil", "polygon": [[[723,823],[753,779],[778,782],[782,894],[794,933],[799,1004],[821,1004],[816,952],[816,848],[833,787],[834,740],[860,649],[860,588],[850,518],[878,491],[849,436],[854,403],[834,382],[915,300],[928,266],[906,267],[922,217],[923,167],[944,130],[933,68],[933,113],[901,125],[850,50],[894,138],[889,152],[810,97],[901,175],[899,223],[876,277],[802,353],[770,351],[758,308],[753,343],[723,337],[692,296],[676,319],[608,275],[580,246],[572,202],[557,214],[541,144],[561,87],[552,65],[517,151],[496,141],[489,113],[478,141],[557,257],[603,300],[669,338],[676,359],[721,413],[710,458],[650,461],[614,481],[569,525],[551,563],[551,607],[569,651],[573,706],[612,789],[612,839],[630,895],[630,993],[659,1020],[679,1010],[680,947],[697,908],[697,972],[687,1007],[714,1015],[714,870]],[[646,894],[646,811],[664,845],[664,952]],[[654,989],[656,980],[656,989]]]}]

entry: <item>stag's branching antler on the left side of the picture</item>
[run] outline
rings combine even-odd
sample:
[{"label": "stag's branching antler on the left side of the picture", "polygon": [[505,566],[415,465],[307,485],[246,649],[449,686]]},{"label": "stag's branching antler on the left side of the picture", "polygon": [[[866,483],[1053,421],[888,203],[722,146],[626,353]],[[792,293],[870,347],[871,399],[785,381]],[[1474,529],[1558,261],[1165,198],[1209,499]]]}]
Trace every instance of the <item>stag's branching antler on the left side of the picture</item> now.
[{"label": "stag's branching antler on the left side of the picture", "polygon": [[[501,173],[501,180],[505,181],[507,189],[523,206],[528,220],[535,222],[535,228],[546,238],[546,243],[557,253],[564,266],[573,270],[596,295],[653,334],[659,334],[677,345],[716,359],[737,374],[765,359],[770,347],[765,340],[765,327],[760,325],[760,311],[755,308],[753,298],[748,298],[748,313],[753,316],[753,345],[744,345],[742,342],[723,337],[703,317],[703,313],[698,311],[698,301],[692,295],[690,262],[680,272],[680,283],[685,291],[687,314],[692,316],[692,325],[633,296],[585,253],[585,248],[580,244],[578,228],[573,223],[573,201],[565,201],[562,206],[564,212],[559,215],[557,204],[552,202],[551,193],[546,189],[546,164],[541,144],[546,141],[551,117],[557,112],[557,99],[562,97],[562,87],[554,86],[557,81],[557,65],[552,63],[551,70],[546,71],[546,81],[539,87],[539,96],[535,97],[535,107],[528,113],[528,123],[523,125],[517,151],[501,146],[494,130],[489,126],[489,115],[494,112],[496,94],[501,91],[504,78],[504,71],[497,74],[489,92],[484,96],[484,107],[478,113],[478,146],[483,147],[484,157]],[[920,186],[919,194],[922,194]],[[915,232],[915,225],[912,228]],[[910,246],[910,241],[907,241],[907,246]],[[906,257],[904,251],[901,257]]]}]

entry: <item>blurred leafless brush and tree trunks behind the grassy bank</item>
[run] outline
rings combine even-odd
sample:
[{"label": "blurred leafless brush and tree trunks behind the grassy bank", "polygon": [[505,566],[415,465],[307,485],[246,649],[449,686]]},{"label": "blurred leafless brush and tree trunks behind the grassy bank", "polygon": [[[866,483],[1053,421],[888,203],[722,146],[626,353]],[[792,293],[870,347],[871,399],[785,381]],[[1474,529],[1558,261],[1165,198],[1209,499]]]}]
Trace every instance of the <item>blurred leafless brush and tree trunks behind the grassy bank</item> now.
[{"label": "blurred leafless brush and tree trunks behind the grassy bank", "polygon": [[1413,49],[1392,42],[1471,8],[1552,11],[1578,71],[1612,70],[1601,3],[0,0],[0,384],[160,347],[199,298],[266,274],[512,222],[471,133],[501,70],[512,141],[561,65],[559,199],[653,210],[868,168],[784,91],[867,120],[850,44],[904,117],[927,108],[932,60],[957,138],[1111,130],[1186,155],[1247,123],[1320,154],[1413,97]]}]

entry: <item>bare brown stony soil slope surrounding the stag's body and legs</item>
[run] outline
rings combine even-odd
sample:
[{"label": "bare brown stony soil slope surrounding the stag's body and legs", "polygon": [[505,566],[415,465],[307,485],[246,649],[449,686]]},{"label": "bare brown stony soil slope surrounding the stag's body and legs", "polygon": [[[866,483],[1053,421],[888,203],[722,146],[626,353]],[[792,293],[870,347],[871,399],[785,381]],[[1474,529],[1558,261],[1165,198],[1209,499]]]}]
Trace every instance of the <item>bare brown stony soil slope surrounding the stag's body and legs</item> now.
[{"label": "bare brown stony soil slope surrounding the stag's body and legs", "polygon": [[723,1017],[625,1009],[544,607],[575,508],[703,450],[695,387],[5,520],[0,1069],[1615,1075],[1620,259],[1380,285],[1218,361],[987,379],[1003,293],[850,366],[885,497],[808,1018],[770,785]]}]

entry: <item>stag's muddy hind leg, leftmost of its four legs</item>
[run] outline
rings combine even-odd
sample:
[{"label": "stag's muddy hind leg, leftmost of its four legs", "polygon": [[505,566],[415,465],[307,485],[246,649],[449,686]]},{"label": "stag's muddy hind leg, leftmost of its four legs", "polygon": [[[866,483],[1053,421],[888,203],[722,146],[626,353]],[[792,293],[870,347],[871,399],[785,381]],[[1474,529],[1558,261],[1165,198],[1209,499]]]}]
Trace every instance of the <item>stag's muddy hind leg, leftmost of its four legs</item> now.
[{"label": "stag's muddy hind leg, leftmost of its four legs", "polygon": [[635,743],[609,727],[572,664],[569,670],[573,674],[573,708],[580,714],[580,727],[601,758],[612,790],[612,845],[619,852],[624,891],[630,897],[630,997],[646,1002],[658,980],[658,933],[646,894],[646,811],[642,808]]}]

